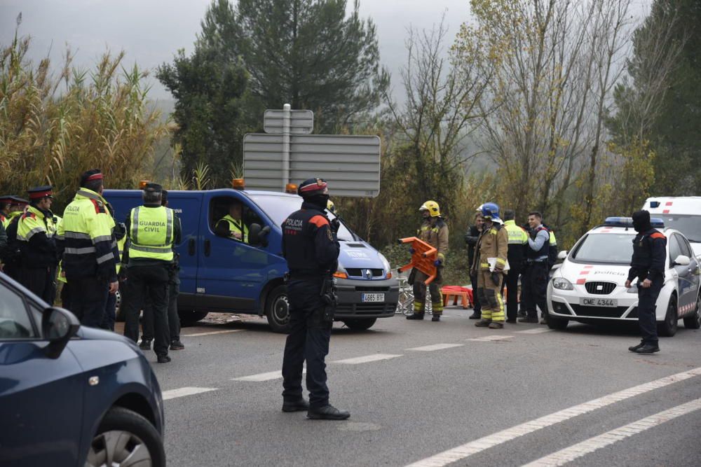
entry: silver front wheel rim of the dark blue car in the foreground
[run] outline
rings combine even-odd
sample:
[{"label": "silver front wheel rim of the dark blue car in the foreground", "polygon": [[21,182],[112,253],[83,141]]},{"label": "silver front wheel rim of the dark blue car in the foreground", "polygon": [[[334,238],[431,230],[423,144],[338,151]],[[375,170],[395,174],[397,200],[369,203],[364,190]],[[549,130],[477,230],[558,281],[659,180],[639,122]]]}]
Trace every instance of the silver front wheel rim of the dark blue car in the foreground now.
[{"label": "silver front wheel rim of the dark blue car in the foreground", "polygon": [[147,445],[128,431],[105,431],[95,436],[86,466],[150,467],[151,453]]}]

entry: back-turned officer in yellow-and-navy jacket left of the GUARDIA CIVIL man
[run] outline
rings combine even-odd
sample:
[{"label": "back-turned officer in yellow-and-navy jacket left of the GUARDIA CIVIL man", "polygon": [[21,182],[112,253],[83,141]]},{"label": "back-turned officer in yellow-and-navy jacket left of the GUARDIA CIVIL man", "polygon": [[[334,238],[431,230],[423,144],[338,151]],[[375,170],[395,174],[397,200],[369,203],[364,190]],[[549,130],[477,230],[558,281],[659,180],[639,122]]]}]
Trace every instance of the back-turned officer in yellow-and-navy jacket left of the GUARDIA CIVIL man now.
[{"label": "back-turned officer in yellow-and-navy jacket left of the GUARDIA CIVIL man", "polygon": [[85,326],[103,325],[107,291],[118,289],[114,219],[102,197],[102,172],[83,173],[59,223],[56,244],[69,287],[70,309]]}]

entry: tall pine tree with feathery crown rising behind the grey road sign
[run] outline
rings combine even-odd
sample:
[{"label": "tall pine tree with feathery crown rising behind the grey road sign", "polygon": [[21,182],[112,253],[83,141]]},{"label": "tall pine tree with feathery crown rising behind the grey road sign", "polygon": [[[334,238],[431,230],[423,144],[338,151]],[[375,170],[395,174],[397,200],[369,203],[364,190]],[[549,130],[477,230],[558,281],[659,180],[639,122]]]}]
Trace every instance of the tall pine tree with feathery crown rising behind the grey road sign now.
[{"label": "tall pine tree with feathery crown rising behind the grey road sign", "polygon": [[240,57],[258,109],[310,109],[332,132],[373,111],[389,85],[375,26],[358,8],[346,18],[345,0],[214,0],[198,47]]}]

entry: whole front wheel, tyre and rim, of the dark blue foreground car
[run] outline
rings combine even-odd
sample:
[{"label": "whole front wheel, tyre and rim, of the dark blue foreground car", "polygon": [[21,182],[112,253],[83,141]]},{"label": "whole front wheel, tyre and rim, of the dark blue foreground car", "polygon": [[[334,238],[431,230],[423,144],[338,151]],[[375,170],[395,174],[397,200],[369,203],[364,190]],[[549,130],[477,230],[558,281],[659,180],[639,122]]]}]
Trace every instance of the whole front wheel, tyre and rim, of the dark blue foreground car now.
[{"label": "whole front wheel, tyre and rim, of the dark blue foreground car", "polygon": [[165,467],[163,439],[151,422],[141,415],[123,407],[113,407],[97,427],[85,465],[132,465],[129,461],[136,463],[137,459],[143,459],[144,465]]}]

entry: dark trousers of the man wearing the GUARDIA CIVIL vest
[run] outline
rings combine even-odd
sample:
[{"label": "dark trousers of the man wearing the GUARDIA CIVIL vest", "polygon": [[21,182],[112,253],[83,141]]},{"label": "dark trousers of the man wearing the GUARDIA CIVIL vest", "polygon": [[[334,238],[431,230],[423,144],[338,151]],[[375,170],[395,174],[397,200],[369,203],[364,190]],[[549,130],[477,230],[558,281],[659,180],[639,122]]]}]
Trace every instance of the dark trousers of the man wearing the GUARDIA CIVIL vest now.
[{"label": "dark trousers of the man wearing the GUARDIA CIVIL vest", "polygon": [[168,266],[130,265],[122,307],[124,309],[124,335],[134,342],[139,340],[139,312],[147,300],[154,310],[154,351],[158,356],[168,355]]}]

